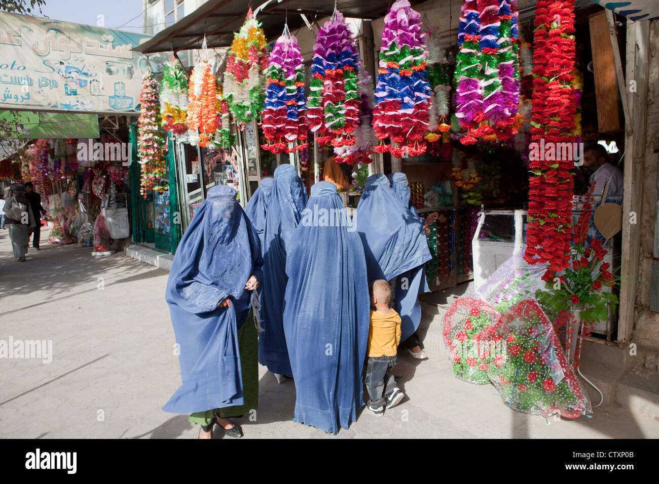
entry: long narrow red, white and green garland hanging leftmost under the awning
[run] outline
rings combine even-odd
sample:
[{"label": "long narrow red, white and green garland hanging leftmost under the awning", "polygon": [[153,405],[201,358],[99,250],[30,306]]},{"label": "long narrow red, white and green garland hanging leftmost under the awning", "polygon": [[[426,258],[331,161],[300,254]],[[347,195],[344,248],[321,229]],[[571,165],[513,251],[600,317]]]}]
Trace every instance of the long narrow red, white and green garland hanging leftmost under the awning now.
[{"label": "long narrow red, white and green garland hanging leftmost under the awning", "polygon": [[157,189],[161,176],[167,173],[165,138],[160,129],[158,84],[150,71],[145,72],[142,77],[140,105],[138,118],[138,158],[142,165],[140,193],[146,197],[146,192]]}]

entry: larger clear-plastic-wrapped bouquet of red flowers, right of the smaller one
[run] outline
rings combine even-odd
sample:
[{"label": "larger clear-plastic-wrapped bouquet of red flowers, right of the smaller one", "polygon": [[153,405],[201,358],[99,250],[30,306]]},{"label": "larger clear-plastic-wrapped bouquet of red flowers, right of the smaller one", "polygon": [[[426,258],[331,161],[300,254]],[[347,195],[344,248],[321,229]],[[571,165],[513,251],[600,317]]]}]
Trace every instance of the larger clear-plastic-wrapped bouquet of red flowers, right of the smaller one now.
[{"label": "larger clear-plastic-wrapped bouquet of red flowers, right of the smaller one", "polygon": [[503,403],[525,414],[592,414],[590,398],[567,361],[551,321],[536,301],[508,308],[494,328],[488,377]]}]

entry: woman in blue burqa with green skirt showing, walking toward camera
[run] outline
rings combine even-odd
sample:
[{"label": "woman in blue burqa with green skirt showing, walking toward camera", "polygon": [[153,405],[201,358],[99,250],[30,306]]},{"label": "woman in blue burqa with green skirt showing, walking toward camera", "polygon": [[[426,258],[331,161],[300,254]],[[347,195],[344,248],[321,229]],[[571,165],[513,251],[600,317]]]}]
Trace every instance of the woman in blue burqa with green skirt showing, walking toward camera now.
[{"label": "woman in blue burqa with green skirt showing, walking toward camera", "polygon": [[239,417],[256,409],[256,325],[250,313],[258,288],[261,247],[236,192],[214,186],[192,217],[172,263],[169,304],[183,384],[163,410],[192,414],[199,437],[212,438],[217,421],[229,437],[242,437]]}]

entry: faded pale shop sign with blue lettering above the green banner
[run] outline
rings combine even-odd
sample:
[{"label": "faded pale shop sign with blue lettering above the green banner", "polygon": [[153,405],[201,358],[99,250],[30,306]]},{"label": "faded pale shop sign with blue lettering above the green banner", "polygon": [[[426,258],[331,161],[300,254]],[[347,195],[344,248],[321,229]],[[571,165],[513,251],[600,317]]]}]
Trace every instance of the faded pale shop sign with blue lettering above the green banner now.
[{"label": "faded pale shop sign with blue lettering above the green banner", "polygon": [[143,34],[0,13],[0,109],[135,114]]}]

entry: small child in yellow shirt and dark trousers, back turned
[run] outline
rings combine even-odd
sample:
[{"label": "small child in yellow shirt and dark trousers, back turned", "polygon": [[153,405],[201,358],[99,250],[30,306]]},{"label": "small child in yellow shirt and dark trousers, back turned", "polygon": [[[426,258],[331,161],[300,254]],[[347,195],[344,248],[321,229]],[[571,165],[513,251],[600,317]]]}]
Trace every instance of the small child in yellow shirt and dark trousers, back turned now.
[{"label": "small child in yellow shirt and dark trousers, back turned", "polygon": [[[396,364],[401,340],[401,317],[389,308],[389,282],[378,279],[370,284],[371,309],[368,328],[368,365],[366,389],[370,396],[366,408],[376,416],[384,415],[384,408],[396,406],[403,400],[403,392],[396,386],[391,369]],[[384,390],[384,391],[383,391]]]}]

